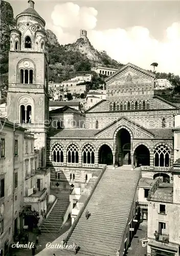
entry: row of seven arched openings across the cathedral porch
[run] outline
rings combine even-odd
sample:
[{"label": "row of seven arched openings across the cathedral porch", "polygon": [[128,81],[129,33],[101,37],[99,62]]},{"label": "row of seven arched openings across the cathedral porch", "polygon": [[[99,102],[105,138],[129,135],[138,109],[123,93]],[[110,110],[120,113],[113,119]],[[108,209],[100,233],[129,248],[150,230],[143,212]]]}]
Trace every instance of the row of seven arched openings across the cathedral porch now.
[{"label": "row of seven arched openings across the cathedral porch", "polygon": [[[119,133],[120,132],[120,133]],[[134,167],[149,166],[150,155],[153,154],[153,166],[156,167],[170,167],[171,166],[171,152],[170,149],[163,144],[160,144],[154,148],[153,151],[148,148],[146,144],[138,144],[133,152],[133,160],[131,153],[131,145],[129,143],[128,131],[121,129],[117,133],[118,141],[116,153],[108,143],[102,143],[98,150],[91,143],[86,143],[82,149],[78,145],[72,143],[67,148],[64,148],[61,144],[56,143],[51,149],[51,161],[56,163],[64,162],[64,154],[66,154],[67,163],[80,163],[82,164],[113,164],[114,156],[116,158],[117,165],[131,164],[133,161]],[[120,141],[120,138],[123,138]],[[81,156],[80,156],[81,155]],[[97,156],[97,158],[96,158]]]}]

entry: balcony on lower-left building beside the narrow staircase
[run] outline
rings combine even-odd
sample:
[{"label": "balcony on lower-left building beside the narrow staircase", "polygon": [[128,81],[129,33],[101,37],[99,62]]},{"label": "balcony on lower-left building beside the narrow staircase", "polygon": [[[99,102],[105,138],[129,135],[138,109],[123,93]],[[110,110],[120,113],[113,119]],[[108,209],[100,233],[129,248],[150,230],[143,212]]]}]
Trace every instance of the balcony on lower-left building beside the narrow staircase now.
[{"label": "balcony on lower-left building beside the narrow staircase", "polygon": [[[32,193],[31,195],[29,195],[30,192]],[[33,188],[30,188],[28,189],[28,195],[29,196],[24,197],[24,203],[40,203],[45,199],[47,195],[47,188],[43,188],[42,191],[37,191],[33,190]]]}]

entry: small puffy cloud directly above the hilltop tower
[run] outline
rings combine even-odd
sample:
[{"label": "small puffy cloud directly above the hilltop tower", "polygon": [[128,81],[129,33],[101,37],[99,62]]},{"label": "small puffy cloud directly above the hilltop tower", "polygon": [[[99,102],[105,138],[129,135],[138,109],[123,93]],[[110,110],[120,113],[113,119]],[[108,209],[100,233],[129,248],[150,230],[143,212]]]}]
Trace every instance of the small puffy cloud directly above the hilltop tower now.
[{"label": "small puffy cloud directly above the hilltop tower", "polygon": [[93,7],[79,7],[74,3],[59,4],[51,14],[55,26],[62,28],[93,29],[96,27],[98,12]]}]

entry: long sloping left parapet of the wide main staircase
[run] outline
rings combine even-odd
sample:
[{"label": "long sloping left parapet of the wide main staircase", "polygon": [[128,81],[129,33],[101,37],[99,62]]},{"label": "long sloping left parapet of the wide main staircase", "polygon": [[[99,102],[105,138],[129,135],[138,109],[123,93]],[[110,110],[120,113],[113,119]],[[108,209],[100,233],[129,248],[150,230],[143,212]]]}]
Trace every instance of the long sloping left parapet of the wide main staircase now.
[{"label": "long sloping left parapet of the wide main staircase", "polygon": [[83,211],[84,211],[84,209],[86,208],[86,206],[87,206],[89,200],[91,199],[91,197],[92,197],[92,195],[93,195],[93,193],[94,193],[94,191],[95,191],[95,189],[96,189],[96,187],[97,187],[97,185],[98,185],[100,179],[102,178],[102,176],[103,176],[105,170],[106,170],[106,166],[103,167],[103,169],[102,169],[102,171],[101,171],[99,177],[97,178],[96,183],[94,184],[94,187],[93,187],[92,190],[91,190],[91,193],[90,193],[89,196],[87,197],[87,199],[86,199],[84,205],[81,207],[81,209],[80,209],[80,211],[79,211],[79,213],[78,213],[76,219],[75,219],[74,222],[73,222],[73,225],[71,226],[71,228],[70,228],[70,230],[69,230],[67,236],[66,236],[65,239],[64,239],[64,244],[67,243],[68,240],[70,239],[71,234],[73,233],[73,231],[74,231],[74,229],[75,229],[75,227],[76,227],[76,225],[77,225],[79,219],[81,218],[81,215],[83,214]]}]

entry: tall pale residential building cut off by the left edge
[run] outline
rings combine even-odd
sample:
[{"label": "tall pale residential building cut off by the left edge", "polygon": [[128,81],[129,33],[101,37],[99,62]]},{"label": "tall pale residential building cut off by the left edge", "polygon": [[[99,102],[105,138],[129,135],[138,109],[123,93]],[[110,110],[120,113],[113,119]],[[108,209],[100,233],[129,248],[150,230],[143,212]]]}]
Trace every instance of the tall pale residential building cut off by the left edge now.
[{"label": "tall pale residential building cut off by the left edge", "polygon": [[0,118],[0,249],[7,255],[9,245],[23,225],[23,144],[25,129]]}]

